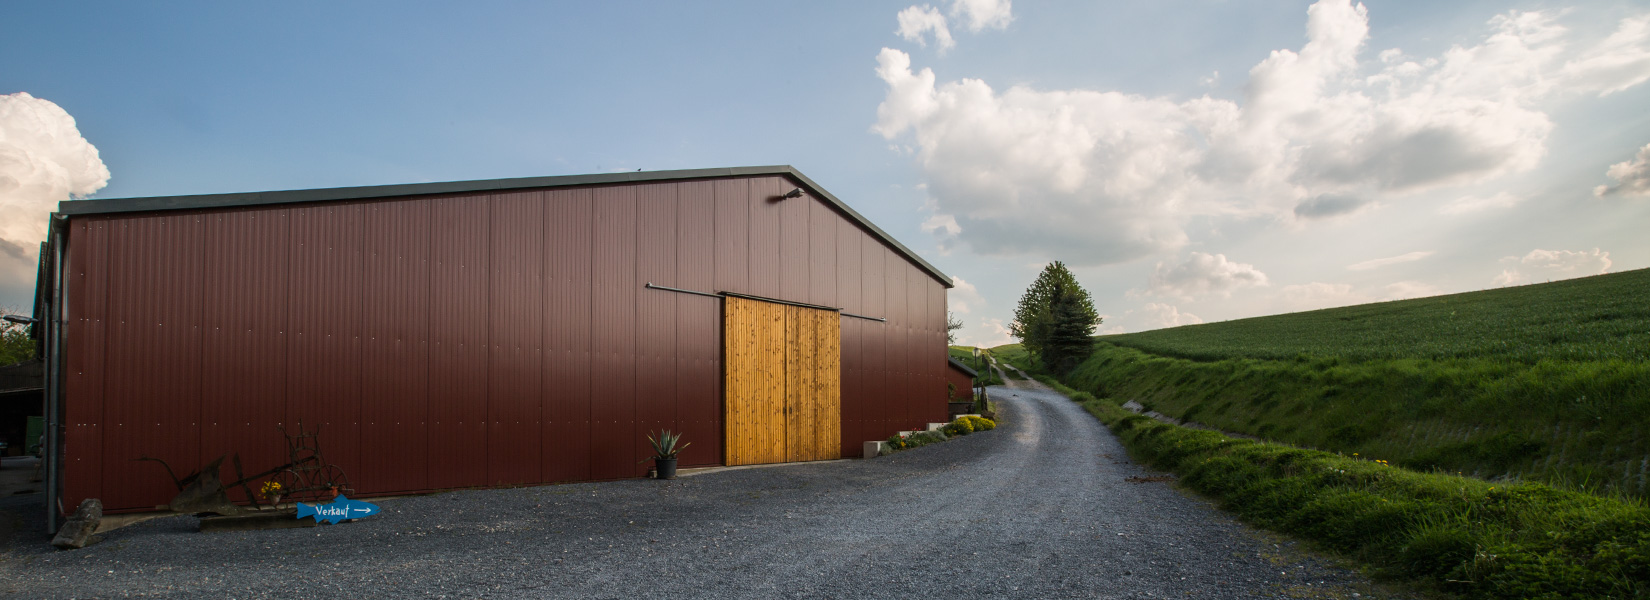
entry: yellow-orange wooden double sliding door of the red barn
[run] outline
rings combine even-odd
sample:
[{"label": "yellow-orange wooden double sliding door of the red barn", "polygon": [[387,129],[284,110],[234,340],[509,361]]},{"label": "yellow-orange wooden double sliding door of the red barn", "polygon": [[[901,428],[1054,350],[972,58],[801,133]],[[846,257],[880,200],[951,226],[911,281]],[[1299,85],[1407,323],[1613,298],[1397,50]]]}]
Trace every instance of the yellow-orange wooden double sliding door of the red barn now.
[{"label": "yellow-orange wooden double sliding door of the red barn", "polygon": [[842,316],[726,298],[724,463],[842,458]]}]

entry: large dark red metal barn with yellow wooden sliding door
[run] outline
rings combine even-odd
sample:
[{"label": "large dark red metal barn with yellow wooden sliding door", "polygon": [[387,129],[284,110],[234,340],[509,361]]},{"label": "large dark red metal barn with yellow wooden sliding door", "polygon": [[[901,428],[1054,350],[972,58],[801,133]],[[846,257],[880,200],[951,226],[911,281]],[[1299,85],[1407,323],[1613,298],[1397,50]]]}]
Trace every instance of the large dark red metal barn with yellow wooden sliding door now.
[{"label": "large dark red metal barn with yellow wooden sliding door", "polygon": [[58,513],[167,504],[140,458],[280,465],[300,422],[381,496],[945,417],[950,279],[790,166],[66,201],[43,262]]}]

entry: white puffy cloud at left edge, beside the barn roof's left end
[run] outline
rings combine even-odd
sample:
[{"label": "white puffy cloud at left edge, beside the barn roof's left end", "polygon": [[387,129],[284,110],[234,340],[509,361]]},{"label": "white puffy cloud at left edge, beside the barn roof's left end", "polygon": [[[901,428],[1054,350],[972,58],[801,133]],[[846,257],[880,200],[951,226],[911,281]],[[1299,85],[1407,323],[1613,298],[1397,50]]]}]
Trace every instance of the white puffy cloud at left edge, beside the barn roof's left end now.
[{"label": "white puffy cloud at left edge, beside the barn roof's left end", "polygon": [[107,183],[109,168],[74,117],[26,92],[0,94],[0,277],[33,280],[56,203]]}]

